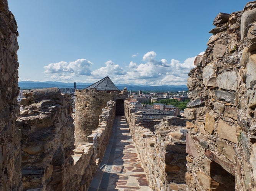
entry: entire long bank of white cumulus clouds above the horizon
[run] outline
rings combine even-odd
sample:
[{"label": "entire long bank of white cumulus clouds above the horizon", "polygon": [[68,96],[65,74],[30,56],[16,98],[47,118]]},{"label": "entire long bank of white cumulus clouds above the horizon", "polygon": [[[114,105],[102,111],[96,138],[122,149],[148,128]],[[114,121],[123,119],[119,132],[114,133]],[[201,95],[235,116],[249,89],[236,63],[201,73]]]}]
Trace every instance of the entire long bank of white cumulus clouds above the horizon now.
[{"label": "entire long bank of white cumulus clouds above the horizon", "polygon": [[[200,54],[203,54],[201,52]],[[195,67],[195,57],[187,58],[184,62],[165,58],[156,59],[154,51],[145,53],[142,63],[130,62],[128,66],[120,66],[111,60],[105,66],[94,71],[92,63],[86,59],[74,62],[58,62],[45,66],[45,73],[51,80],[79,81],[94,83],[109,76],[116,84],[147,84],[147,85],[185,85],[188,73]]]}]

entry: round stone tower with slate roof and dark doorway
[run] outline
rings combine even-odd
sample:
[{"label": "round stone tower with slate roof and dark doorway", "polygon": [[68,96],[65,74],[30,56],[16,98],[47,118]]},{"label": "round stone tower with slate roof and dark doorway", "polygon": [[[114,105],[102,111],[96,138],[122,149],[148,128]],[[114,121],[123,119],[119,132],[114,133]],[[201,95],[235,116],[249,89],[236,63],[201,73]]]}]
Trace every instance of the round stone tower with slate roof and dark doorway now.
[{"label": "round stone tower with slate roof and dark doorway", "polygon": [[116,114],[124,114],[127,91],[120,91],[109,77],[75,92],[75,141],[87,142],[87,136],[99,125],[99,115],[109,100],[116,101]]}]

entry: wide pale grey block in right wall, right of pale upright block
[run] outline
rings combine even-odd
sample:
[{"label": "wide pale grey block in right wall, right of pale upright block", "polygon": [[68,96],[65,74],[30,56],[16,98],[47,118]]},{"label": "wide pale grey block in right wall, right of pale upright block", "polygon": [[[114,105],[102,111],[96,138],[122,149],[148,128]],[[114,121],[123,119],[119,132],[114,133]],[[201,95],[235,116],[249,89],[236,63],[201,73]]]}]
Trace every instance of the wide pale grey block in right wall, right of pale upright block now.
[{"label": "wide pale grey block in right wall, right of pale upright block", "polygon": [[218,75],[216,83],[222,89],[236,91],[241,83],[241,76],[237,71],[224,72]]}]

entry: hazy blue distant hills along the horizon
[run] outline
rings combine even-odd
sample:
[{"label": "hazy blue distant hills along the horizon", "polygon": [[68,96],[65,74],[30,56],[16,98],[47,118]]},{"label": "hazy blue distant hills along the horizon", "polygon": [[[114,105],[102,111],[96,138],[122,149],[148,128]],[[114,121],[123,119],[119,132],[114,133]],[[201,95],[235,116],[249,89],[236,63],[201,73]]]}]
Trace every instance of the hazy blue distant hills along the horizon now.
[{"label": "hazy blue distant hills along the horizon", "polygon": [[[91,85],[91,83],[76,83],[76,88],[84,89]],[[118,89],[123,90],[124,87],[127,87],[128,91],[188,91],[187,86],[145,86],[145,85],[129,85],[129,84],[116,84]],[[21,89],[41,89],[46,87],[58,87],[58,88],[73,88],[73,83],[63,83],[63,82],[53,82],[53,81],[46,81],[46,82],[34,82],[34,81],[19,81],[19,87]]]}]

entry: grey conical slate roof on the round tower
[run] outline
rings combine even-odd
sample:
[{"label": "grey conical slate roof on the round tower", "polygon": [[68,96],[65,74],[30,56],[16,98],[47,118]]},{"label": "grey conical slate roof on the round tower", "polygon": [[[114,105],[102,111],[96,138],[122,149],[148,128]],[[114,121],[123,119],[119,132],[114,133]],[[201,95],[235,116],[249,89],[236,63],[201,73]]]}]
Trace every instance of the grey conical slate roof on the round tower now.
[{"label": "grey conical slate roof on the round tower", "polygon": [[120,91],[108,76],[86,87],[89,88],[97,88],[97,91]]}]

